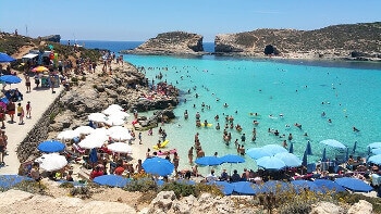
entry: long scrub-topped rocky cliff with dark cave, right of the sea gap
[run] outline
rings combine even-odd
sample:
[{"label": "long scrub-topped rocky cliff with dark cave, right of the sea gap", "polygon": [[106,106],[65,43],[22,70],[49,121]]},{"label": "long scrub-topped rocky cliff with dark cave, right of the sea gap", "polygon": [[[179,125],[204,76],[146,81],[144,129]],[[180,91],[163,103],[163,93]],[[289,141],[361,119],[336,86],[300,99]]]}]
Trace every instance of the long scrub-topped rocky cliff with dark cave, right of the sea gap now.
[{"label": "long scrub-topped rocky cliff with dark cave, right of the sea gap", "polygon": [[229,54],[265,54],[312,58],[381,59],[381,22],[334,25],[316,30],[256,29],[217,35],[216,52]]}]

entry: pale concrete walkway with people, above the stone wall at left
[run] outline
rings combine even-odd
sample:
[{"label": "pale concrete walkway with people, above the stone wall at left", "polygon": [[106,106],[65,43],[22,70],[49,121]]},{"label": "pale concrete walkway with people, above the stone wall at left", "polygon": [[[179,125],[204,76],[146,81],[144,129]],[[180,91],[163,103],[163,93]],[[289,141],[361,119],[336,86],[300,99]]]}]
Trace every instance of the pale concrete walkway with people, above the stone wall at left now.
[{"label": "pale concrete walkway with people, above the stone wall at left", "polygon": [[[0,175],[17,174],[20,167],[20,161],[17,159],[16,149],[17,146],[26,138],[29,130],[41,117],[42,113],[49,108],[53,100],[60,95],[63,87],[54,88],[56,93],[51,92],[50,88],[35,88],[34,79],[32,81],[32,92],[26,92],[25,78],[23,75],[19,75],[23,80],[20,84],[7,85],[5,90],[12,88],[19,88],[23,93],[24,99],[21,101],[22,106],[25,110],[27,101],[30,101],[32,118],[24,117],[24,125],[19,125],[19,117],[14,115],[15,123],[10,123],[10,116],[5,118],[5,135],[8,136],[8,155],[4,156],[4,166],[0,167]],[[16,103],[17,106],[17,103]]]}]

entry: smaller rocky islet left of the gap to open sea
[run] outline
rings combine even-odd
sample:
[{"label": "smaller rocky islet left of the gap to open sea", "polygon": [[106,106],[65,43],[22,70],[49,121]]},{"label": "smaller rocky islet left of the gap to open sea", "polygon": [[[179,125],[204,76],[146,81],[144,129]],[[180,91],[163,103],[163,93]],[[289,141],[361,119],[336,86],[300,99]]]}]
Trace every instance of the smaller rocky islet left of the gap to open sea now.
[{"label": "smaller rocky islet left of the gap to open sea", "polygon": [[202,36],[185,32],[159,34],[134,50],[121,53],[134,54],[200,54],[202,53]]}]

